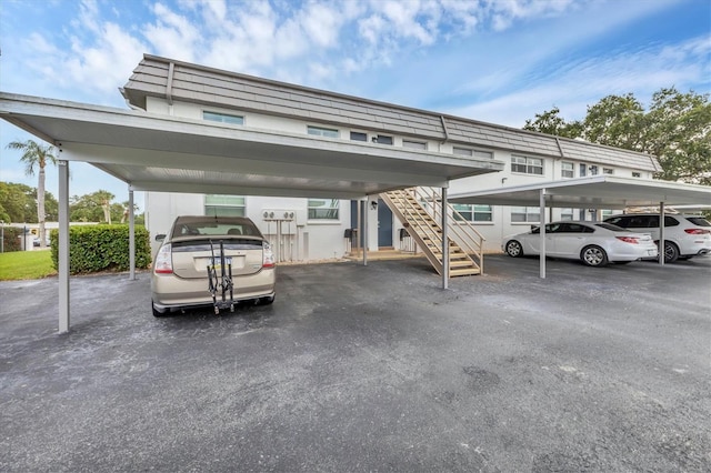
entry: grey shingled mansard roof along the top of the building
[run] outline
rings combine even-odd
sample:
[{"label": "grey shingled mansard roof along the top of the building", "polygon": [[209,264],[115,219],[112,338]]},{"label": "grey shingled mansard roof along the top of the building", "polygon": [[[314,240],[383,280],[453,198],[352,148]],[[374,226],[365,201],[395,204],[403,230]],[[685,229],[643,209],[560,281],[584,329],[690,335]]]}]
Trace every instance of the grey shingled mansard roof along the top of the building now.
[{"label": "grey shingled mansard roof along the top of the building", "polygon": [[147,97],[288,117],[312,123],[392,133],[421,140],[505,150],[528,155],[661,170],[634,151],[503,127],[461,117],[278,82],[146,54],[122,89],[134,107]]}]

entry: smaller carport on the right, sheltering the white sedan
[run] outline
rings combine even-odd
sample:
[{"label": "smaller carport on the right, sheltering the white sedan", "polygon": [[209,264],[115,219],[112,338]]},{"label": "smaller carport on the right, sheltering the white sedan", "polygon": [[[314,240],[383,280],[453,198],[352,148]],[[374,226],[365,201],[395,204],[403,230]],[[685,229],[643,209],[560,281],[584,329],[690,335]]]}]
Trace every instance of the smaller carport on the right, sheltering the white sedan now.
[{"label": "smaller carport on the right, sheltering the white sedan", "polygon": [[[545,278],[545,208],[625,209],[659,205],[664,221],[665,207],[711,204],[711,188],[680,182],[592,175],[538,184],[515,185],[450,195],[450,202],[489,205],[540,207],[540,278]],[[660,241],[664,227],[660,227]],[[659,259],[664,264],[664,259]]]}]

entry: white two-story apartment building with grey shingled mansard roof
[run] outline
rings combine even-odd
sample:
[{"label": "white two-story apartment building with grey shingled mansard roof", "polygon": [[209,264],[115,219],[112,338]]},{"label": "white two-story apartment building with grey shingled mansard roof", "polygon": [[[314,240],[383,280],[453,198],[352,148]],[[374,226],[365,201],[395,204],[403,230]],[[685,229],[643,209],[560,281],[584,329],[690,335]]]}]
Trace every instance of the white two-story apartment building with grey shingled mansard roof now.
[{"label": "white two-story apartment building with grey shingled mansard roof", "polygon": [[[122,89],[127,102],[149,113],[220,122],[234,129],[304,133],[373,147],[400,147],[502,162],[503,171],[450,182],[453,193],[593,174],[651,179],[655,159],[437,112],[146,56]],[[403,172],[408,170],[403,169]],[[359,210],[360,208],[360,210]],[[455,205],[495,251],[503,235],[538,222],[538,208]],[[553,219],[590,220],[580,209],[554,209]],[[368,221],[369,250],[400,248],[402,224],[378,195],[356,201],[323,198],[148,192],[146,221],[152,236],[178,214],[251,218],[274,244],[279,260],[342,256],[346,235]]]}]

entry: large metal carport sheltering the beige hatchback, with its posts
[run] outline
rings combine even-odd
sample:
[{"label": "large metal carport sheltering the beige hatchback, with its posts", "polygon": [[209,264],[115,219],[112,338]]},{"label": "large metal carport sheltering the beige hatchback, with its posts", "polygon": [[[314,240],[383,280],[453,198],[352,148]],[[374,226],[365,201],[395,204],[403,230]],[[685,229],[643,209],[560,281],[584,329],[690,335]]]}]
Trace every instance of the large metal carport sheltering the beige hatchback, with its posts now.
[{"label": "large metal carport sheltering the beige hatchback, with its posts", "polygon": [[[388,190],[425,185],[441,188],[445,205],[450,180],[503,169],[502,162],[491,159],[236,128],[3,92],[0,92],[0,117],[56,145],[60,152],[60,333],[70,326],[71,161],[91,163],[128,183],[131,279],[134,279],[133,191],[364,200]],[[447,212],[442,214],[445,229]],[[447,268],[447,238],[442,246]],[[442,272],[444,289],[447,273]]]}]

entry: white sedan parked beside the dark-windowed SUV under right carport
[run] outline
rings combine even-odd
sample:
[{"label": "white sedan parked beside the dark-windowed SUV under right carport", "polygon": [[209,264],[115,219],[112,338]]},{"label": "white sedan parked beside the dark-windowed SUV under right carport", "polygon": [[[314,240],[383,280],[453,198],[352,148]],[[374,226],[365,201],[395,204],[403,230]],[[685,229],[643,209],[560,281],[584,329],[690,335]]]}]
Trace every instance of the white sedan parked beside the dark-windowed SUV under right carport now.
[{"label": "white sedan parked beside the dark-windowed SUV under right carport", "polygon": [[[509,256],[540,254],[540,227],[507,236],[502,249]],[[649,233],[635,233],[604,222],[552,222],[545,225],[545,254],[580,260],[589,266],[624,264],[654,259],[657,244]]]}]

